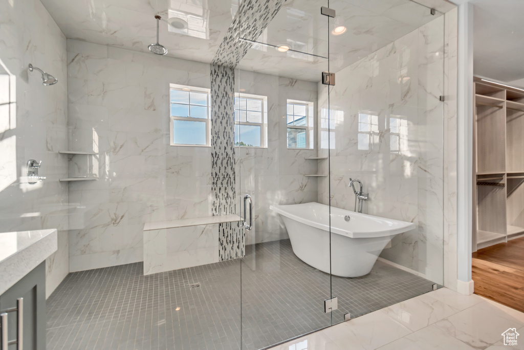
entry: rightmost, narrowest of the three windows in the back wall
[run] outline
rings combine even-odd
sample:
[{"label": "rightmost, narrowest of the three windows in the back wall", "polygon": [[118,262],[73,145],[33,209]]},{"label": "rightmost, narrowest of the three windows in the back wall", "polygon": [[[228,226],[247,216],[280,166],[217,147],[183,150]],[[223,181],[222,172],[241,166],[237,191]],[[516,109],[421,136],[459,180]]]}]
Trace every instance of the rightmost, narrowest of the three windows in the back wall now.
[{"label": "rightmost, narrowest of the three windows in the back wall", "polygon": [[313,149],[313,103],[288,100],[288,149]]}]

